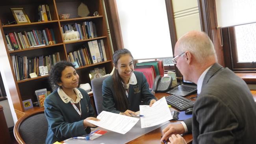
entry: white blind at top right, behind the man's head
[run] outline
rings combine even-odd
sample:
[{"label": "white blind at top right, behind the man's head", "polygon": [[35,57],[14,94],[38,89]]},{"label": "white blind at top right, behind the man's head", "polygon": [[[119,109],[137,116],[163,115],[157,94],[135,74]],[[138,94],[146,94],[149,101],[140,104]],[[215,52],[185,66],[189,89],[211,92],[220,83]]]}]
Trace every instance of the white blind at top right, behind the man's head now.
[{"label": "white blind at top right, behind the man's head", "polygon": [[215,0],[217,28],[256,22],[256,0]]}]

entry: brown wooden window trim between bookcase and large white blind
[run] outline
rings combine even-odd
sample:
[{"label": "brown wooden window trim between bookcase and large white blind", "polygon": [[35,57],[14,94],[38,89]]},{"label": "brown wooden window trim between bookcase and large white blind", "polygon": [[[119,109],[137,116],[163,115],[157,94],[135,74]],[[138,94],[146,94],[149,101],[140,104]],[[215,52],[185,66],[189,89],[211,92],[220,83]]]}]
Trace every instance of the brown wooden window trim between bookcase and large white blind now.
[{"label": "brown wooden window trim between bookcase and large white blind", "polygon": [[104,0],[114,52],[124,48],[121,26],[115,0]]}]

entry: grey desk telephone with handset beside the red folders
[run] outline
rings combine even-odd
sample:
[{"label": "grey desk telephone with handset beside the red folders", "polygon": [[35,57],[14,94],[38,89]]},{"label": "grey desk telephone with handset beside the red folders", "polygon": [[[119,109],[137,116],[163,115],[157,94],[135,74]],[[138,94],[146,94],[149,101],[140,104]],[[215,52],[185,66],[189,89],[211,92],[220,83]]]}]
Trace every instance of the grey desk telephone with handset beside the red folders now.
[{"label": "grey desk telephone with handset beside the red folders", "polygon": [[173,82],[173,78],[171,76],[156,76],[154,80],[153,90],[155,92],[166,92],[170,89]]}]

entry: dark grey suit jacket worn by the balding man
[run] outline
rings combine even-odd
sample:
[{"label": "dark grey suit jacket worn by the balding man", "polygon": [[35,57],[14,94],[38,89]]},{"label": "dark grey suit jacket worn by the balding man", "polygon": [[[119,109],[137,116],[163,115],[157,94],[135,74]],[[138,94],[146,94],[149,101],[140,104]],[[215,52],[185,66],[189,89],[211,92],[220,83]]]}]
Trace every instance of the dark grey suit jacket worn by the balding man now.
[{"label": "dark grey suit jacket worn by the balding man", "polygon": [[206,73],[192,119],[193,144],[256,143],[256,104],[243,79],[215,63]]}]

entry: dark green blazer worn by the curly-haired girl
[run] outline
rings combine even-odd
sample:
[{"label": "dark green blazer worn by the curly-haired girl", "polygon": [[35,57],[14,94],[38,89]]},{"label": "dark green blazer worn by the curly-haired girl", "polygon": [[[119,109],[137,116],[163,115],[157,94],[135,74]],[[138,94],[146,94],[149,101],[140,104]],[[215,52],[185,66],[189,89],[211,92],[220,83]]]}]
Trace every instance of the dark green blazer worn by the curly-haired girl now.
[{"label": "dark green blazer worn by the curly-haired girl", "polygon": [[83,120],[95,116],[95,113],[87,92],[80,88],[77,89],[83,96],[80,100],[81,117],[70,102],[65,103],[61,100],[57,90],[46,97],[45,116],[48,121],[48,135],[45,144],[60,142],[70,137],[86,135],[91,132],[90,127],[83,128]]}]

